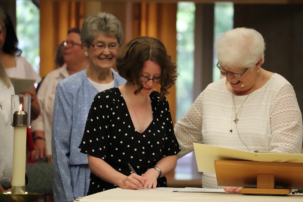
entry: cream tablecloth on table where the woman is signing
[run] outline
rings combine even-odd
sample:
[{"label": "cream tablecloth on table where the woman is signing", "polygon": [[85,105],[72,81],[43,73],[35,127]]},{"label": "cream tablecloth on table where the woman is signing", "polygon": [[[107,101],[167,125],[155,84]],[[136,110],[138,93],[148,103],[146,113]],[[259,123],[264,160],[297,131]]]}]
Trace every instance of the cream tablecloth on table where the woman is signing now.
[{"label": "cream tablecloth on table where the woman is signing", "polygon": [[[163,189],[163,188],[162,188]],[[170,188],[168,188],[170,189]],[[164,190],[125,190],[122,188],[111,189],[97,194],[83,197],[80,202],[153,202],[153,201],[190,201],[190,202],[214,202],[214,201],[227,201],[227,202],[302,202],[303,194],[289,194],[287,196],[255,196],[237,193],[193,193],[193,192],[172,192]]]}]

